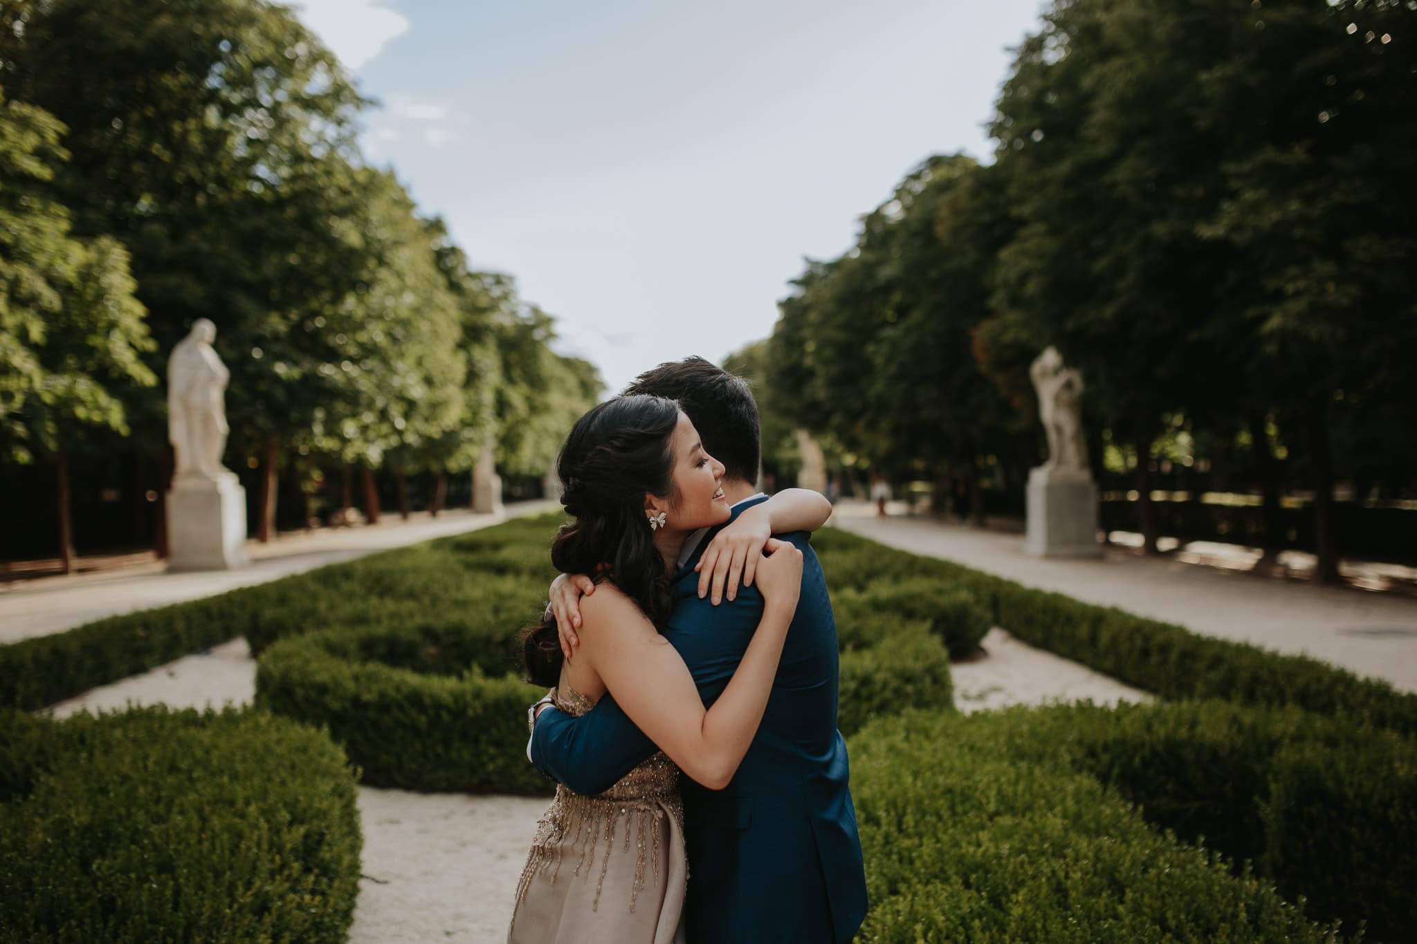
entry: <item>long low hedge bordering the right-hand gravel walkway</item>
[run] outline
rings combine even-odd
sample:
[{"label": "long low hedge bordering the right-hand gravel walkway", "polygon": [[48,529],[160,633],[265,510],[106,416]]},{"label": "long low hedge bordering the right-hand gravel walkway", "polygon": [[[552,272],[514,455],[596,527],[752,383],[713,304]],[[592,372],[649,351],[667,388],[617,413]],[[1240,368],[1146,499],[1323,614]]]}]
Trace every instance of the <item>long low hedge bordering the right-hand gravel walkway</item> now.
[{"label": "long low hedge bordering the right-hand gravel walkway", "polygon": [[1223,698],[1311,712],[1417,735],[1417,695],[1302,655],[1197,635],[1185,627],[1033,590],[948,560],[922,558],[833,528],[812,538],[833,596],[928,579],[986,604],[1024,643],[1169,699]]}]

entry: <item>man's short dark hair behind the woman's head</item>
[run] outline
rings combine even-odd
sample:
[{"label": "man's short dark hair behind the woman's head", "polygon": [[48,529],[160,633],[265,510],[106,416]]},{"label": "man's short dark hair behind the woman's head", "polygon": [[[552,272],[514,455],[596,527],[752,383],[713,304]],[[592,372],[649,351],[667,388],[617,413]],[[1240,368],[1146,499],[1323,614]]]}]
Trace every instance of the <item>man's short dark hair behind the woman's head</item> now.
[{"label": "man's short dark hair behind the woman's head", "polygon": [[704,451],[724,464],[724,476],[758,481],[758,403],[741,376],[686,357],[645,371],[623,392],[679,401]]}]

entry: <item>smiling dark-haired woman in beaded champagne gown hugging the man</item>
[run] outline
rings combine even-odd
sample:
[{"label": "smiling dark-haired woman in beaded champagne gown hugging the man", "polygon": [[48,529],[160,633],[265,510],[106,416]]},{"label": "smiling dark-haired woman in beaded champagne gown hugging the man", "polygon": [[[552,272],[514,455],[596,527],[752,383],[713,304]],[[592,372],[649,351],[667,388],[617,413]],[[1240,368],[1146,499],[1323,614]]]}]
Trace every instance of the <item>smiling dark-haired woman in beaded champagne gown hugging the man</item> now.
[{"label": "smiling dark-haired woman in beaded champagne gown hugging the man", "polygon": [[[765,600],[762,620],[733,681],[706,710],[660,630],[686,538],[730,517],[723,466],[673,401],[622,396],[575,423],[557,474],[574,519],[557,532],[551,560],[563,573],[595,575],[599,589],[581,604],[581,644],[570,658],[554,618],[524,635],[527,674],[555,686],[557,708],[574,715],[609,692],[663,753],[595,797],[557,787],[517,886],[509,941],[683,941],[679,771],[721,788],[743,761],[796,609],[802,553],[772,539],[761,548],[768,556],[754,549],[755,572],[745,566],[744,580]],[[830,514],[815,493],[778,495],[764,507],[778,532],[815,529]]]}]

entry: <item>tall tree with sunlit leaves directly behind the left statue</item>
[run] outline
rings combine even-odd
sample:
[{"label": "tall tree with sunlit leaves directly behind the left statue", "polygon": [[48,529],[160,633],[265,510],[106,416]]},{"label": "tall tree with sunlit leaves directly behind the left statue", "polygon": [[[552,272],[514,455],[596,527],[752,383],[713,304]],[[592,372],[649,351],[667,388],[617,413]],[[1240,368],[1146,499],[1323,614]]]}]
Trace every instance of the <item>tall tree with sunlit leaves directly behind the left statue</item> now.
[{"label": "tall tree with sunlit leaves directly behind the left statue", "polygon": [[[74,160],[54,184],[78,235],[132,253],[157,341],[149,368],[163,371],[197,317],[217,324],[228,449],[265,454],[272,481],[279,442],[327,396],[320,368],[350,337],[341,306],[377,262],[359,231],[364,99],[262,0],[10,0],[0,75],[68,126]],[[162,396],[132,419],[140,447],[167,454]]]}]

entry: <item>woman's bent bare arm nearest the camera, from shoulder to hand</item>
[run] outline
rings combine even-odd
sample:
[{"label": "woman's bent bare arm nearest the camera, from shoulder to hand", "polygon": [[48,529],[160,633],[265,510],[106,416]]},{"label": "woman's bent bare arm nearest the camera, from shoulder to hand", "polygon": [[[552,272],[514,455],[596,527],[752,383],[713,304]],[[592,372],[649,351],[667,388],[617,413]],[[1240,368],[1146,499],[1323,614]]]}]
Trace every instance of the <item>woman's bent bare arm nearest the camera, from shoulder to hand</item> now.
[{"label": "woman's bent bare arm nearest the camera, from shoulder to hand", "polygon": [[710,790],[728,785],[758,732],[796,611],[802,552],[778,541],[769,549],[760,566],[762,620],[728,686],[707,710],[683,658],[633,600],[605,586],[581,601],[578,655],[589,660],[629,719]]}]

